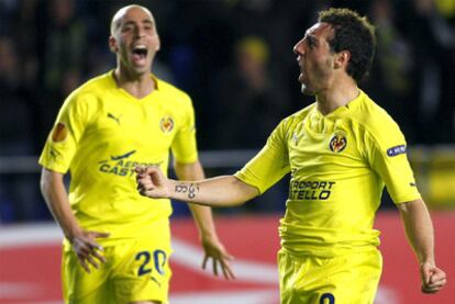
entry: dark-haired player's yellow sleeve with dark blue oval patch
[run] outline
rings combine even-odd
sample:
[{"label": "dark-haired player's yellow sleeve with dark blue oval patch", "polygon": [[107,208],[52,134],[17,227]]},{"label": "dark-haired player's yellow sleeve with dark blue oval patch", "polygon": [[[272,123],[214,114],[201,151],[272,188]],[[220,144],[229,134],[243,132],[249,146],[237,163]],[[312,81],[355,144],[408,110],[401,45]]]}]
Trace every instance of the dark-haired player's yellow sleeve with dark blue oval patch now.
[{"label": "dark-haired player's yellow sleeve with dark blue oval patch", "polygon": [[380,176],[396,204],[420,199],[413,171],[407,157],[407,143],[391,119],[381,123],[381,131],[367,133],[369,164]]}]

